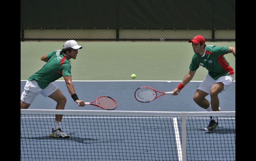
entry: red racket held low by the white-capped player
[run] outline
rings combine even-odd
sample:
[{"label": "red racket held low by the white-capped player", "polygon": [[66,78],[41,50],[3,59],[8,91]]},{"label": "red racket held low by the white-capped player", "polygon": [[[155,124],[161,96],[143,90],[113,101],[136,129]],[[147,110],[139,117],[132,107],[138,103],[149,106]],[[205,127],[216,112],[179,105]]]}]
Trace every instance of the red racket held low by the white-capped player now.
[{"label": "red racket held low by the white-capped player", "polygon": [[[92,104],[93,102],[96,102],[96,104]],[[79,103],[76,103],[76,105],[79,106]],[[117,107],[116,101],[108,96],[100,96],[92,102],[85,102],[85,105],[97,106],[104,110],[114,110]]]}]

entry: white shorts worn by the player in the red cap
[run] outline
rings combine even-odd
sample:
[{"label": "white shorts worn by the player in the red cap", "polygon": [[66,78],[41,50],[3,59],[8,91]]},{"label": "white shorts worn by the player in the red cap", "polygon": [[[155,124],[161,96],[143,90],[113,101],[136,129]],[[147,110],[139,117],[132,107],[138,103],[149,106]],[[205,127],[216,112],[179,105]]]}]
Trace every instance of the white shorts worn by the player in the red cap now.
[{"label": "white shorts worn by the player in the red cap", "polygon": [[[211,89],[212,85],[214,83],[222,82],[224,84],[223,91],[225,91],[233,83],[233,77],[234,77],[234,74],[222,76],[222,77],[219,77],[217,80],[214,80],[207,73],[206,77],[204,78],[202,83],[200,83],[200,85],[197,89],[210,94],[210,89]],[[221,91],[221,92],[223,92],[223,91]]]}]

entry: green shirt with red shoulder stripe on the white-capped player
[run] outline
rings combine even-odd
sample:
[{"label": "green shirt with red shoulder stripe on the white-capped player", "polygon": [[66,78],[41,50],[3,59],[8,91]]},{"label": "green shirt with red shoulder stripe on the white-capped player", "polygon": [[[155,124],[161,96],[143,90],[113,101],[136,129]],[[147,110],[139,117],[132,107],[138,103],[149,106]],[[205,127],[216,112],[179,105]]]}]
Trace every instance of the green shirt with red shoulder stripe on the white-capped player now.
[{"label": "green shirt with red shoulder stripe on the white-capped player", "polygon": [[39,87],[45,89],[51,82],[62,76],[71,76],[71,65],[61,50],[48,53],[48,62],[36,73],[29,77],[29,81],[36,80]]}]

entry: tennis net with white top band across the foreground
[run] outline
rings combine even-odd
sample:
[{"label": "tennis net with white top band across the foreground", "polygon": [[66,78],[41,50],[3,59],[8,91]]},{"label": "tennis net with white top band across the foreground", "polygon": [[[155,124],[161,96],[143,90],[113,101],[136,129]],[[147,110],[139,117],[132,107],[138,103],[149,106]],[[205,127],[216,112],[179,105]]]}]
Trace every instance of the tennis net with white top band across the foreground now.
[{"label": "tennis net with white top band across the foreground", "polygon": [[[56,114],[69,138],[50,137]],[[21,160],[233,161],[235,112],[21,110]]]}]

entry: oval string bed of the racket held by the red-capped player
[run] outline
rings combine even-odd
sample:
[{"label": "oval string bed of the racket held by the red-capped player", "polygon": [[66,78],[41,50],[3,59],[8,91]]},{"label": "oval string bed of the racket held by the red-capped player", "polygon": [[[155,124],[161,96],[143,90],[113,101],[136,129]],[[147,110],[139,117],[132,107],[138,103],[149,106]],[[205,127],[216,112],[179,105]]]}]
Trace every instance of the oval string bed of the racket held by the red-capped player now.
[{"label": "oval string bed of the racket held by the red-capped player", "polygon": [[141,102],[150,102],[156,98],[156,92],[150,88],[140,88],[135,92],[135,97]]}]

